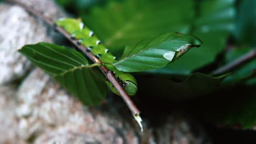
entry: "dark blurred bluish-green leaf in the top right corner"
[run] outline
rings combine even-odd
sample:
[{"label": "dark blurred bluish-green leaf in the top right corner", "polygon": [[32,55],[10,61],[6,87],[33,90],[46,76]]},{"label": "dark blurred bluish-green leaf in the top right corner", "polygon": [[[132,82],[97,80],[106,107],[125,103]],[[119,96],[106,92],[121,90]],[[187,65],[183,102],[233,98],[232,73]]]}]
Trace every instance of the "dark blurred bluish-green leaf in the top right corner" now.
[{"label": "dark blurred bluish-green leaf in the top right corner", "polygon": [[236,39],[249,46],[256,46],[256,1],[243,0],[238,6]]}]

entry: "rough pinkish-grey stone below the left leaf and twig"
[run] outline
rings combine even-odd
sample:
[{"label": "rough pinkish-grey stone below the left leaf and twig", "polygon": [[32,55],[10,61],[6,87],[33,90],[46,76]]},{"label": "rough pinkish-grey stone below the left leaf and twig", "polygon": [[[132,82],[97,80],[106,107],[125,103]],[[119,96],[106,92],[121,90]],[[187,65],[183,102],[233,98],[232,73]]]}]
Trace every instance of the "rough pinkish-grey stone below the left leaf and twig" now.
[{"label": "rough pinkish-grey stone below the left leaf and twig", "polygon": [[[101,143],[138,143],[135,131],[123,124],[118,113],[84,107],[42,70],[36,69],[28,75],[17,95],[17,131],[23,140],[39,137],[36,142],[44,143],[45,137],[54,141],[67,135],[63,142],[71,139],[86,141],[88,135],[93,135]],[[57,134],[53,135],[53,131]]]}]

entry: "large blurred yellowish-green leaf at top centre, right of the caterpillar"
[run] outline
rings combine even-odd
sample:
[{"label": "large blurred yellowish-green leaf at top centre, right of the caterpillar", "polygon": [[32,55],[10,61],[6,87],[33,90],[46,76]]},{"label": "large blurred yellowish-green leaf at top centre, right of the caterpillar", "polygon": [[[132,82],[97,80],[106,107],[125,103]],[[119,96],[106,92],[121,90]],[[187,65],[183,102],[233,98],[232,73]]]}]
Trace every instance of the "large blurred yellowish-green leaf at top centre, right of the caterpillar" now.
[{"label": "large blurred yellowish-green leaf at top centre, right of the caterpillar", "polygon": [[124,46],[149,35],[188,33],[188,22],[193,15],[193,1],[129,0],[111,1],[106,7],[97,7],[82,17],[110,51],[117,54]]}]

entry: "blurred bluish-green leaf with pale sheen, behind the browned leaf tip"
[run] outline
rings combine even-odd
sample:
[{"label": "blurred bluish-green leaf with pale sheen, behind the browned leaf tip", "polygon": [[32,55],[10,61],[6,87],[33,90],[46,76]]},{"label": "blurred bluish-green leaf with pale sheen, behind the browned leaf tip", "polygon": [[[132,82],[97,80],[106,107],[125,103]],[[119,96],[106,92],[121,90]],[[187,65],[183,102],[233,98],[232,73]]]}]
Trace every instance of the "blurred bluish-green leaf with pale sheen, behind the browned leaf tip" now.
[{"label": "blurred bluish-green leaf with pale sheen, behind the browned leaf tip", "polygon": [[179,61],[155,70],[154,73],[190,75],[194,70],[214,62],[219,52],[223,51],[229,34],[234,30],[234,2],[234,0],[202,1],[199,17],[193,20],[194,24],[191,23],[194,25],[191,34],[203,41],[200,49],[191,49]]}]

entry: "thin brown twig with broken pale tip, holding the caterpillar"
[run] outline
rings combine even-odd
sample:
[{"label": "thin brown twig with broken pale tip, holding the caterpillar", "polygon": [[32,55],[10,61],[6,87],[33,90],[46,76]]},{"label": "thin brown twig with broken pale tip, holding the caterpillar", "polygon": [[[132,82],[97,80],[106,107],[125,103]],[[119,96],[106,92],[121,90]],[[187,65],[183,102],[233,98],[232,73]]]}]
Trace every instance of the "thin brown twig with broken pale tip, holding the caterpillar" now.
[{"label": "thin brown twig with broken pale tip, holding the caterpillar", "polygon": [[[78,45],[77,41],[78,40],[73,40],[71,39],[71,35],[65,31],[65,29],[55,26],[54,22],[50,19],[48,19],[48,17],[45,17],[44,15],[42,15],[41,13],[39,13],[39,11],[34,10],[33,8],[28,7],[27,5],[19,2],[19,1],[15,1],[15,0],[5,0],[7,2],[11,2],[11,3],[15,3],[20,5],[22,8],[26,9],[28,12],[30,12],[31,14],[39,17],[40,19],[42,19],[45,23],[47,23],[49,26],[53,27],[56,29],[56,31],[59,31],[62,35],[64,35],[69,41],[71,41],[75,46],[78,47],[78,49],[80,51],[82,51],[84,53],[84,55],[86,55],[89,59],[91,59],[92,62],[94,63],[100,63],[101,61],[100,59],[96,58],[91,52],[87,52],[86,49],[87,47],[85,47],[84,45]],[[133,103],[133,101],[130,99],[129,95],[125,92],[124,88],[119,84],[119,82],[117,81],[117,79],[115,79],[115,76],[113,75],[112,71],[109,71],[106,67],[104,67],[104,65],[101,66],[101,70],[104,72],[104,74],[106,74],[108,80],[110,82],[112,82],[113,86],[117,89],[117,91],[120,93],[121,98],[123,98],[123,100],[125,101],[126,105],[129,107],[131,113],[133,116],[138,116],[139,115],[139,110],[137,108],[137,106]]]}]

